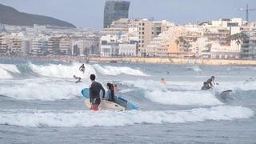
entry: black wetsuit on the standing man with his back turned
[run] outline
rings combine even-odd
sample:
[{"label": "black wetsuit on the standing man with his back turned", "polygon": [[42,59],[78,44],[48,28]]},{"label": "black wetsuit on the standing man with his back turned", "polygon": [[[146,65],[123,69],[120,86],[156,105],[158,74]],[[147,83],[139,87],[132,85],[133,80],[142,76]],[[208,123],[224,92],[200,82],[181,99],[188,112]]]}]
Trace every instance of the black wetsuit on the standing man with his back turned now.
[{"label": "black wetsuit on the standing man with his back turned", "polygon": [[98,106],[101,103],[101,98],[100,98],[100,90],[102,90],[102,98],[105,98],[105,90],[102,86],[102,84],[98,82],[93,82],[90,86],[90,102],[93,105]]}]

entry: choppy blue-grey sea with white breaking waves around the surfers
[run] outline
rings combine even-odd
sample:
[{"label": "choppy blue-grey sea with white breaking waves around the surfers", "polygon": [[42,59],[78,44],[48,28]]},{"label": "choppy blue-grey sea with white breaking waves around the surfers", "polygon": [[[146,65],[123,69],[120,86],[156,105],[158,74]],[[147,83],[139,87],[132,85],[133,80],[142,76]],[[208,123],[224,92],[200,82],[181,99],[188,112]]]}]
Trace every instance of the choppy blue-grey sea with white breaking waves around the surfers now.
[{"label": "choppy blue-grey sea with white breaking waves around the surfers", "polygon": [[[0,143],[256,142],[253,66],[95,62],[82,74],[81,63],[1,61]],[[80,91],[90,74],[139,110],[89,111]],[[200,90],[212,75],[219,85]]]}]

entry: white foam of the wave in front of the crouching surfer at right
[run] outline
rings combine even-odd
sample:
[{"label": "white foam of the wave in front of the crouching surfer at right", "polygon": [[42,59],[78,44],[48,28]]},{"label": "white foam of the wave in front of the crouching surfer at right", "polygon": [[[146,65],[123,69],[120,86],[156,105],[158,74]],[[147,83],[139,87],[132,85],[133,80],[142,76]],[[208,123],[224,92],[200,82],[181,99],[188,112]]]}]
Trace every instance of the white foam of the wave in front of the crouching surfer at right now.
[{"label": "white foam of the wave in front of the crouching surfer at right", "polygon": [[152,102],[158,102],[166,105],[220,105],[222,102],[214,96],[212,91],[166,91],[161,90],[147,91],[145,98]]}]

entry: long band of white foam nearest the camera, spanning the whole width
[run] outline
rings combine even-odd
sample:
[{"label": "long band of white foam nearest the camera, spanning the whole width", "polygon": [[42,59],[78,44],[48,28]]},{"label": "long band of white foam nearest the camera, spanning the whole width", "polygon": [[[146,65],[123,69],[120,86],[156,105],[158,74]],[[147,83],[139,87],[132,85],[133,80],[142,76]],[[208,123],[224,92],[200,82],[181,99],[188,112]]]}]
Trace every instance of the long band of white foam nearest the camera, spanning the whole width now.
[{"label": "long band of white foam nearest the camera, spanning the whole width", "polygon": [[13,126],[125,126],[142,123],[184,123],[250,118],[254,111],[242,106],[217,106],[192,110],[124,112],[84,110],[0,110],[0,124]]}]

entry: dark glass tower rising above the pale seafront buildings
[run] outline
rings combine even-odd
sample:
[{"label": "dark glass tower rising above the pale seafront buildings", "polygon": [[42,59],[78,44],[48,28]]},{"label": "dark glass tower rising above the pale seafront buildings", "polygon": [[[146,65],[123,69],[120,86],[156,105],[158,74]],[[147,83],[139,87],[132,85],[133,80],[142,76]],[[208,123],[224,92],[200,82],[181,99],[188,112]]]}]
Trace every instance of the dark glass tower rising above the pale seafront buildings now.
[{"label": "dark glass tower rising above the pale seafront buildings", "polygon": [[104,9],[104,28],[110,27],[113,21],[128,18],[130,2],[106,1]]}]

